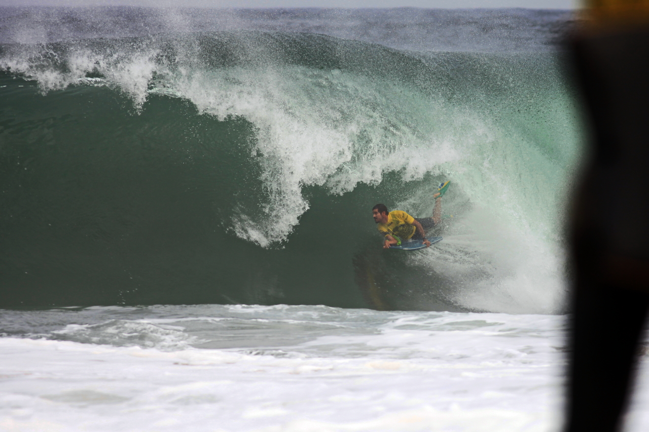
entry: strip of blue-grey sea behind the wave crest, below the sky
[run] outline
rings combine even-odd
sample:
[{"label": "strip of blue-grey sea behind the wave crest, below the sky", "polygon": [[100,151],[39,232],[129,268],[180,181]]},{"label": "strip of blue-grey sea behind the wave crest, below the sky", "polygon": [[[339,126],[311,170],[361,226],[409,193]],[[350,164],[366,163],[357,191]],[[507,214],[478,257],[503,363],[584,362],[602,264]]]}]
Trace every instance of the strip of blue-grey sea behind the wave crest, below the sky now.
[{"label": "strip of blue-grey sea behind the wave crest, below the sky", "polygon": [[570,10],[422,8],[0,8],[0,43],[51,43],[199,31],[326,34],[413,51],[552,51]]}]

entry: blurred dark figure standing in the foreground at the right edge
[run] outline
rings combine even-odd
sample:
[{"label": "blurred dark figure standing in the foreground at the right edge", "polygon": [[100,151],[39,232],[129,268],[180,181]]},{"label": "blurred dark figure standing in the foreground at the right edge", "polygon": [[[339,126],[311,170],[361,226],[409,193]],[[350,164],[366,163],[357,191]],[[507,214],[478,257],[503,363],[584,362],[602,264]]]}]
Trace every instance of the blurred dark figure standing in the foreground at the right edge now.
[{"label": "blurred dark figure standing in the foreground at the right edge", "polygon": [[572,200],[566,432],[622,427],[649,307],[649,0],[591,1],[570,40],[592,125]]}]

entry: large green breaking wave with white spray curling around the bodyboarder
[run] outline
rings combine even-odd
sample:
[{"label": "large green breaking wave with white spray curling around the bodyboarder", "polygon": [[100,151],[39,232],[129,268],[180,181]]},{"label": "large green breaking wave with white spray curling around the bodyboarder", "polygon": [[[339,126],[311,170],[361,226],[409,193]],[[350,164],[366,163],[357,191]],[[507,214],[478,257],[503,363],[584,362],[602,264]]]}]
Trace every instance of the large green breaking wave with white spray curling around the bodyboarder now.
[{"label": "large green breaking wave with white spray curling around the bodyboarder", "polygon": [[[111,26],[112,9],[67,33],[52,17],[69,10],[19,11],[31,27],[0,47],[0,306],[563,309],[582,138],[547,38],[413,51],[263,16],[234,28],[232,11],[215,31],[169,12],[154,35]],[[430,215],[446,179],[445,240],[382,250],[371,207]]]}]

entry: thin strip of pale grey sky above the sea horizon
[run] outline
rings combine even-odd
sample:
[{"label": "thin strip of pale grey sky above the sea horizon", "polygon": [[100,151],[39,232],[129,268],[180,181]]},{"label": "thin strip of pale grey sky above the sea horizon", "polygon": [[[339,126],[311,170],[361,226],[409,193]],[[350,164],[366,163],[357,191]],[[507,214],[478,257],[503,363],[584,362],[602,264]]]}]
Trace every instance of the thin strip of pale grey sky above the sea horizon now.
[{"label": "thin strip of pale grey sky above the sea horizon", "polygon": [[572,9],[575,0],[0,0],[3,6],[198,6],[212,8],[278,8],[278,7],[343,7],[343,8],[534,8]]}]

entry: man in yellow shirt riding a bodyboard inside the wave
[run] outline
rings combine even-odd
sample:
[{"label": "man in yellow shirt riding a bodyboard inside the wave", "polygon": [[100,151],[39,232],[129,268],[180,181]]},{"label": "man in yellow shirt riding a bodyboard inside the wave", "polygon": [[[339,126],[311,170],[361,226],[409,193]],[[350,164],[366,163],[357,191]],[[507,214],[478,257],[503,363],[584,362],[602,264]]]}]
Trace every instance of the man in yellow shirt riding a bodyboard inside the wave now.
[{"label": "man in yellow shirt riding a bodyboard inside the wave", "polygon": [[376,204],[372,208],[372,217],[376,222],[378,232],[385,237],[383,248],[398,246],[404,240],[419,240],[426,247],[430,246],[430,241],[426,239],[426,230],[430,230],[441,222],[441,197],[447,192],[449,183],[450,181],[443,182],[437,187],[437,192],[433,195],[435,208],[432,217],[416,218],[405,211],[387,211],[385,204]]}]

